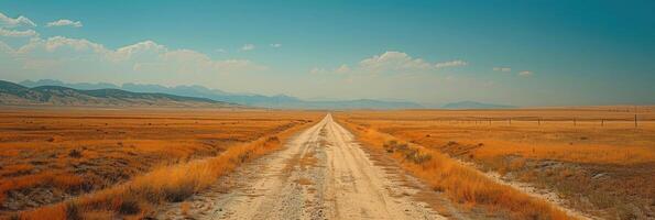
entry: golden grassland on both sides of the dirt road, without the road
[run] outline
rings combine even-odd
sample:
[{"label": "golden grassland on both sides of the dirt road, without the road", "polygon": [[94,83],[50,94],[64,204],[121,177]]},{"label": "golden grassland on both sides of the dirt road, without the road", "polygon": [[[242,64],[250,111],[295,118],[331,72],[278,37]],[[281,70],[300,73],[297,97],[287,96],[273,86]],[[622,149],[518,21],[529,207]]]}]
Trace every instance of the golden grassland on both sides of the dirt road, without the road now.
[{"label": "golden grassland on both sides of the dirt road, without the road", "polygon": [[[319,111],[0,111],[0,219],[140,219],[280,148]],[[655,213],[655,108],[342,111],[387,154],[461,208],[491,218]],[[634,116],[637,122],[635,127]],[[470,165],[472,164],[472,165]],[[554,205],[487,174],[553,191]]]}]

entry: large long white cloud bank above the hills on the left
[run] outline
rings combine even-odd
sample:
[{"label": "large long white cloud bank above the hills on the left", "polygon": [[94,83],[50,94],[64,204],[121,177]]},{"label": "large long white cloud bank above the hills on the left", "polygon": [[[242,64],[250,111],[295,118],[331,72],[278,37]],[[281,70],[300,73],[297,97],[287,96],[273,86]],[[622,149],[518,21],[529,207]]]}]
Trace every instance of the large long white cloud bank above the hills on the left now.
[{"label": "large long white cloud bank above the hills on the left", "polygon": [[[0,46],[2,51],[11,50],[9,46]],[[223,74],[266,69],[265,66],[248,59],[212,59],[196,51],[170,50],[153,41],[110,50],[88,40],[63,36],[47,40],[35,37],[17,50],[12,57],[20,59],[17,65],[21,65],[24,69],[42,72],[59,69],[63,73],[68,72],[67,69],[78,69],[96,76],[100,73],[121,72],[120,74],[134,77],[148,75],[153,78],[153,75],[159,75],[163,80],[185,76],[190,77],[189,80],[198,80],[198,78],[214,78]]]}]

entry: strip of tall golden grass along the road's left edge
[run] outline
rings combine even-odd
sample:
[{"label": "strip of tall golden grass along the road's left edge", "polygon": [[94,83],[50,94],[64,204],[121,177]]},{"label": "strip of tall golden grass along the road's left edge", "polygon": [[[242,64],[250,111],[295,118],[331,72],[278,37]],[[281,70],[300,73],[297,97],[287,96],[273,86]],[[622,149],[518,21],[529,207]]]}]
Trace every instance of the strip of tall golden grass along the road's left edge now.
[{"label": "strip of tall golden grass along the road's left edge", "polygon": [[155,168],[130,182],[80,196],[65,202],[22,211],[19,219],[89,219],[110,217],[142,219],[151,217],[159,205],[184,201],[239,165],[275,151],[296,131],[313,123],[297,125],[276,135],[229,147],[215,157]]}]

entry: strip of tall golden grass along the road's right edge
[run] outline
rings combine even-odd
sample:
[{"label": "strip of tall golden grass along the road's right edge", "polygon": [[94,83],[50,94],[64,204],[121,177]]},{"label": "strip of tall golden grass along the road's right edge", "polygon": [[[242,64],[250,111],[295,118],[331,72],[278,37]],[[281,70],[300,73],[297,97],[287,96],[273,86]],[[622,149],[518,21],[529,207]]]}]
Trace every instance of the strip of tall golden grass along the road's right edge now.
[{"label": "strip of tall golden grass along the road's right edge", "polygon": [[444,155],[397,139],[376,130],[348,121],[341,124],[356,133],[364,146],[385,151],[403,168],[429,184],[435,190],[465,206],[482,206],[490,211],[507,210],[511,219],[572,219],[548,202],[527,196],[510,186],[489,179],[474,168],[467,167]]}]

